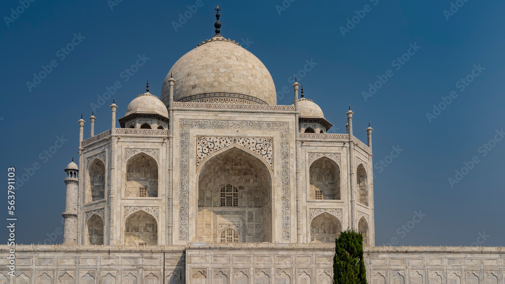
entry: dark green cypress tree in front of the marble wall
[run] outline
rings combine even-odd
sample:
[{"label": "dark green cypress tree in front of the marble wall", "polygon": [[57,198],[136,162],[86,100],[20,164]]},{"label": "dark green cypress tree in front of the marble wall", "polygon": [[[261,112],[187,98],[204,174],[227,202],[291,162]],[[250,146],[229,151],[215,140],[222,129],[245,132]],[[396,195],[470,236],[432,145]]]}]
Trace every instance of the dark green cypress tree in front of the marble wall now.
[{"label": "dark green cypress tree in front of the marble wall", "polygon": [[363,235],[347,230],[335,240],[333,258],[335,284],[367,284],[367,271],[363,259]]}]

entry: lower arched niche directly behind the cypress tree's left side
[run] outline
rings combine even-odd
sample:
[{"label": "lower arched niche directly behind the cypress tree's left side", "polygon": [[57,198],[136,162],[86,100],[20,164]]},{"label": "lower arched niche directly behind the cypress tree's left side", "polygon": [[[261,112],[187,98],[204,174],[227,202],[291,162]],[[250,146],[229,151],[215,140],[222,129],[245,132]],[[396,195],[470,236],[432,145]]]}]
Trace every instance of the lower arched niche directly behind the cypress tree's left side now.
[{"label": "lower arched niche directly behind the cypress tree's left side", "polygon": [[311,222],[311,243],[335,243],[342,232],[342,225],[337,217],[323,212]]}]

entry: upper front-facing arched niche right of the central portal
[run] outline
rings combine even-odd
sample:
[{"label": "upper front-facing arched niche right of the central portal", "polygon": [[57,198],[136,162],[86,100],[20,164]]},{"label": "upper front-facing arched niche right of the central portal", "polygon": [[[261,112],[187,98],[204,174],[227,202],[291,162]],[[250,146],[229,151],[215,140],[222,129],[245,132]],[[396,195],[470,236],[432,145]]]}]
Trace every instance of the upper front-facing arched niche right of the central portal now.
[{"label": "upper front-facing arched niche right of the central portal", "polygon": [[340,199],[340,168],[328,157],[315,160],[309,168],[310,199]]}]

